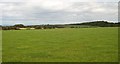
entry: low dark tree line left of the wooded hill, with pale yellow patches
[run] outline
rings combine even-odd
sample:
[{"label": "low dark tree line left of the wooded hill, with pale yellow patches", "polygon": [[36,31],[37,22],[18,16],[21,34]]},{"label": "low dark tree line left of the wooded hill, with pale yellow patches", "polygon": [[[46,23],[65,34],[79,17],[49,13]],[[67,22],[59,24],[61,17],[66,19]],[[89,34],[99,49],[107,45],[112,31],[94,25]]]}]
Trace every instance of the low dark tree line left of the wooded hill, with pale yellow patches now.
[{"label": "low dark tree line left of the wooded hill, with pale yellow patches", "polygon": [[16,24],[14,26],[2,26],[2,30],[20,30],[20,28],[35,28],[35,29],[55,29],[55,28],[64,28],[62,25],[29,25],[24,26],[23,24]]}]

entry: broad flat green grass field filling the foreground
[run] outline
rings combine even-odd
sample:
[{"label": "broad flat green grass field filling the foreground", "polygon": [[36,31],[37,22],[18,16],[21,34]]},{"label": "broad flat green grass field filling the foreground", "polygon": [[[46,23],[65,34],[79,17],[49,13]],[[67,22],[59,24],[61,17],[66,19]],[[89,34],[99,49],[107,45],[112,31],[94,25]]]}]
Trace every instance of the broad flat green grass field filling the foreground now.
[{"label": "broad flat green grass field filling the foreground", "polygon": [[3,31],[3,62],[116,62],[118,28]]}]

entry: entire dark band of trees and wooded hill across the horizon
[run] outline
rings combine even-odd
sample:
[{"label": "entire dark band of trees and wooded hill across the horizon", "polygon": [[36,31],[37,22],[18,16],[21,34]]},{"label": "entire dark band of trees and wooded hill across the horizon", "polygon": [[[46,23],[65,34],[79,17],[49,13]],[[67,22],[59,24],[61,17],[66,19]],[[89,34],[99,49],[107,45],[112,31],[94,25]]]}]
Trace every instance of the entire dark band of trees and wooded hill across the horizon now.
[{"label": "entire dark band of trees and wooded hill across the horizon", "polygon": [[112,23],[107,21],[94,21],[94,22],[85,22],[85,23],[76,23],[76,24],[64,24],[64,25],[28,25],[24,26],[23,24],[15,24],[14,26],[0,26],[2,30],[20,30],[20,28],[35,28],[35,29],[55,29],[55,28],[80,28],[81,26],[91,26],[91,27],[120,27],[120,22]]}]

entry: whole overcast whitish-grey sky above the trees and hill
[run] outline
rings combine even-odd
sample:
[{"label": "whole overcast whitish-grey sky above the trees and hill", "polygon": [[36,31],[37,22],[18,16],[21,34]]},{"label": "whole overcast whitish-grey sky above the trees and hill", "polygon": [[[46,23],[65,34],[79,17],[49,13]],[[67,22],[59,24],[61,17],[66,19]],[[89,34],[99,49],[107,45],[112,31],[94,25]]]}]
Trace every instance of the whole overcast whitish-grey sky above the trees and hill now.
[{"label": "whole overcast whitish-grey sky above the trees and hill", "polygon": [[119,0],[0,0],[0,24],[118,21]]}]

